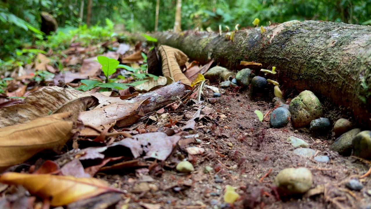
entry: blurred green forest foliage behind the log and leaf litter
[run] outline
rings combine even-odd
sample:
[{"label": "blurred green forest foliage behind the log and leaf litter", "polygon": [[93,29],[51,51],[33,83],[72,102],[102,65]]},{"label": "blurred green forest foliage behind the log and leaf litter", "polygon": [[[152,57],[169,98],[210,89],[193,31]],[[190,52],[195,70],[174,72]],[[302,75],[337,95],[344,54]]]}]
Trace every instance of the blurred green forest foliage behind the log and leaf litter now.
[{"label": "blurred green forest foliage behind the log and leaf litter", "polygon": [[[156,4],[159,3],[158,31],[174,27],[180,0],[1,0],[0,65],[32,58],[22,57],[30,46],[63,50],[78,35],[86,44],[98,43],[115,32],[153,32]],[[55,17],[57,33],[45,38],[40,31],[41,12]],[[82,18],[81,18],[82,17]],[[217,31],[222,25],[233,28],[282,23],[288,20],[324,20],[350,24],[371,24],[371,0],[182,0],[181,29]],[[23,50],[21,50],[23,49]],[[36,52],[35,52],[36,53]],[[17,57],[17,58],[15,58]],[[12,63],[13,64],[13,63]]]}]

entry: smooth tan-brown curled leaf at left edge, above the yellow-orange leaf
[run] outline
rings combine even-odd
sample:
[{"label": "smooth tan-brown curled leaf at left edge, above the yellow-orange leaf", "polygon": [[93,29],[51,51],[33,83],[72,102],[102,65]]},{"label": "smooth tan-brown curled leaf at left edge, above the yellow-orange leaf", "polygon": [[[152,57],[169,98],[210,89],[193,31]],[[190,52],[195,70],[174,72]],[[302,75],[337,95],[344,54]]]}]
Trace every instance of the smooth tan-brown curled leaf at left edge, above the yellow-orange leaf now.
[{"label": "smooth tan-brown curled leaf at left edge, above the yellow-orange leaf", "polygon": [[72,135],[77,116],[66,112],[0,128],[0,172],[44,149],[62,148]]}]

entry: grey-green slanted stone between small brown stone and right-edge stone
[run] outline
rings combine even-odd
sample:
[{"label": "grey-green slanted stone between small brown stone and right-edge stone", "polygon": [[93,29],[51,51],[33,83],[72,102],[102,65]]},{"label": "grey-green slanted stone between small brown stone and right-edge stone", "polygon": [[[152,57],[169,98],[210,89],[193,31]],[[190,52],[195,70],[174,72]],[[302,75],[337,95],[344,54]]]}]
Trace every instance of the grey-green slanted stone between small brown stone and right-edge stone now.
[{"label": "grey-green slanted stone between small brown stone and right-edge stone", "polygon": [[330,148],[336,152],[339,152],[341,155],[350,156],[353,147],[352,140],[359,132],[361,132],[361,129],[355,128],[342,134],[334,143],[332,143]]}]

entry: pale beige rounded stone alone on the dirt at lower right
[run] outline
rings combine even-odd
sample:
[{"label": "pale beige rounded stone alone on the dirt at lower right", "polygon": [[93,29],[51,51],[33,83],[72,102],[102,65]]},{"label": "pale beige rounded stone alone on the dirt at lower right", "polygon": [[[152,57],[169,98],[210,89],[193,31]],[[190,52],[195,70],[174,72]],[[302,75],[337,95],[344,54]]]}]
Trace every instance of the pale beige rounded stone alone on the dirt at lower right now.
[{"label": "pale beige rounded stone alone on the dirt at lower right", "polygon": [[305,193],[312,187],[312,173],[308,168],[285,168],[280,171],[273,184],[286,194]]}]

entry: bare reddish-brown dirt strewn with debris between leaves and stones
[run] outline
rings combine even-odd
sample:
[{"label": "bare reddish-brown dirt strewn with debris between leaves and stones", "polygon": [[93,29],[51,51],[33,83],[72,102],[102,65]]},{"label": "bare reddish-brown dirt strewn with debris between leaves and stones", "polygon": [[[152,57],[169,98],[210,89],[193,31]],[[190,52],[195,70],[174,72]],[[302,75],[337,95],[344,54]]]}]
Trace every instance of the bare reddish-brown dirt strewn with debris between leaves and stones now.
[{"label": "bare reddish-brown dirt strewn with debris between leaves and stones", "polygon": [[[212,98],[213,92],[208,91],[209,94],[204,96]],[[260,122],[254,111],[261,110],[265,114],[274,105],[269,101],[250,101],[247,91],[234,93],[228,90],[217,98],[216,103],[210,104],[205,101],[204,104],[206,107],[201,111],[201,115],[217,119],[217,126],[211,122],[199,121],[193,132],[185,134],[183,132],[181,134],[183,139],[185,135],[198,134],[201,143],[197,144],[193,140],[183,147],[175,147],[173,154],[165,162],[157,162],[163,165],[163,173],[156,173],[154,170],[149,172],[149,176],[154,179],[153,182],[142,183],[140,179],[147,174],[138,172],[124,176],[106,176],[98,173],[98,177],[119,184],[121,189],[128,191],[126,201],[121,200],[116,208],[139,209],[142,208],[139,206],[140,203],[158,204],[169,209],[231,208],[223,199],[224,189],[228,184],[236,187],[236,192],[240,194],[240,198],[235,202],[235,208],[248,208],[251,200],[256,200],[255,208],[264,209],[362,208],[365,207],[365,203],[371,202],[371,191],[368,193],[371,189],[370,177],[361,179],[364,188],[360,192],[348,190],[344,185],[345,181],[354,175],[366,173],[370,165],[331,151],[329,147],[334,141],[331,135],[313,136],[305,128],[296,131],[291,123],[281,129],[270,128],[269,115]],[[193,115],[196,110],[188,111]],[[336,110],[332,110],[331,113],[334,112]],[[329,114],[330,112],[327,112],[325,116]],[[187,121],[182,117],[183,112],[173,112],[171,115],[180,116],[180,122],[177,123],[179,126]],[[161,129],[159,130],[167,131],[169,128]],[[295,148],[286,142],[289,136],[303,139],[309,144],[309,148],[317,151],[316,155],[327,155],[330,161],[319,163],[312,157],[293,154]],[[204,148],[204,154],[188,155],[185,148],[192,146]],[[195,171],[192,174],[175,171],[176,163],[183,157],[193,163]],[[206,166],[212,167],[213,170],[205,174],[203,171]],[[298,167],[306,167],[312,172],[312,188],[323,185],[324,190],[311,197],[305,194],[280,197],[277,200],[272,190],[275,176],[284,168]],[[272,171],[269,173],[269,170]],[[267,173],[269,174],[261,179]],[[216,174],[223,180],[222,183],[215,182]],[[147,184],[151,190],[136,191],[140,183],[144,187]],[[265,193],[262,195],[262,192]]]}]

